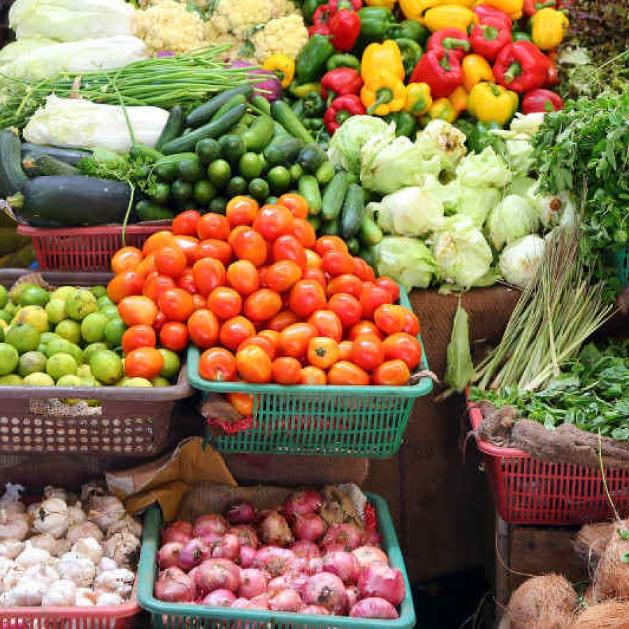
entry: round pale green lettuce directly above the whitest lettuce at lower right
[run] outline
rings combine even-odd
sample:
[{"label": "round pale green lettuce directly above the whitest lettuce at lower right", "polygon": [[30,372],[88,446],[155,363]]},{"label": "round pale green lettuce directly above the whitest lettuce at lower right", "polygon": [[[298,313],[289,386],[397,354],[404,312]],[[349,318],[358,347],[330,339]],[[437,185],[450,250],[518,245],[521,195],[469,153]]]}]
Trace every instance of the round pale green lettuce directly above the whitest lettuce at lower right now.
[{"label": "round pale green lettuce directly above the whitest lettuce at lower right", "polygon": [[489,215],[487,228],[491,244],[500,251],[522,236],[535,233],[540,219],[530,198],[509,194]]}]

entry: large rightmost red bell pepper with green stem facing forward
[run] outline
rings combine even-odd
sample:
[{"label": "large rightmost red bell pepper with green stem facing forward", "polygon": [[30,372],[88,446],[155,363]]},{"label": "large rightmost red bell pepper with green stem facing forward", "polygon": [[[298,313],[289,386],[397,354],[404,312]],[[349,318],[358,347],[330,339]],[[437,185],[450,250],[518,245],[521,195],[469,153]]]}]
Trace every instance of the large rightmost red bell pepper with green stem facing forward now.
[{"label": "large rightmost red bell pepper with green stem facing forward", "polygon": [[500,50],[493,66],[496,80],[512,92],[523,94],[548,82],[549,58],[530,41],[514,41]]}]

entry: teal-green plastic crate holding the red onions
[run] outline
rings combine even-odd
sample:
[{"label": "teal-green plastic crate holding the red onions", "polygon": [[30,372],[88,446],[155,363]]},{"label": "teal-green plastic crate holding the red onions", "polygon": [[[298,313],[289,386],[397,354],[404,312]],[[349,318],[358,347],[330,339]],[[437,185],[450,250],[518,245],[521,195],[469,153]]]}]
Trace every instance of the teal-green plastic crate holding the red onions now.
[{"label": "teal-green plastic crate holding the red onions", "polygon": [[159,530],[162,525],[159,507],[152,507],[144,519],[142,553],[138,567],[138,603],[151,613],[151,626],[155,629],[412,629],[415,626],[415,609],[389,508],[384,498],[372,493],[366,496],[376,510],[378,530],[382,535],[382,549],[389,556],[391,566],[399,568],[404,575],[406,596],[399,607],[400,618],[397,620],[310,616],[229,607],[203,607],[157,600],[153,596],[153,591],[157,577]]}]

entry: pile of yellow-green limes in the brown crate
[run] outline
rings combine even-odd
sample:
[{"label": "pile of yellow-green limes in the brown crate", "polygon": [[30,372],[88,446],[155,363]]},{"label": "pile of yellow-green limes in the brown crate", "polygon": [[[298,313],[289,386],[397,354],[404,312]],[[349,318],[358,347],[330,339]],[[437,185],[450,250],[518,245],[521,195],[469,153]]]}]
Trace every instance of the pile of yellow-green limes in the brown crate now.
[{"label": "pile of yellow-green limes in the brown crate", "polygon": [[170,386],[180,359],[168,349],[152,381],[125,377],[125,331],[103,286],[0,286],[0,386]]}]

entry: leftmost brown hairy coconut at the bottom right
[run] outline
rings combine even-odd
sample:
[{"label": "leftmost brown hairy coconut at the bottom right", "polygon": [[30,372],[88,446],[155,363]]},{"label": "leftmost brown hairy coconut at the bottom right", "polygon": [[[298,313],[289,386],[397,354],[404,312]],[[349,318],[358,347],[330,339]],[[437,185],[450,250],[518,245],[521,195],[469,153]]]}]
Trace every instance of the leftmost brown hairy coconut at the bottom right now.
[{"label": "leftmost brown hairy coconut at the bottom right", "polygon": [[559,574],[528,579],[512,594],[507,606],[510,629],[564,629],[570,626],[577,594]]}]

